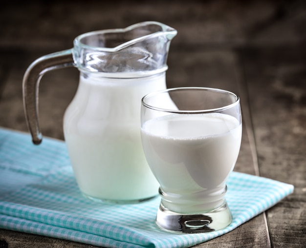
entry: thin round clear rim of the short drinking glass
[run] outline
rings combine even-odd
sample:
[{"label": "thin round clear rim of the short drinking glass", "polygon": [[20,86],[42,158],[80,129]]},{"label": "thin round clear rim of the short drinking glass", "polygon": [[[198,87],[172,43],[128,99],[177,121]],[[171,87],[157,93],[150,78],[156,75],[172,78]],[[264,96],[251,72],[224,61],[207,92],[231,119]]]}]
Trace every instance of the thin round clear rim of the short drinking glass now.
[{"label": "thin round clear rim of the short drinking glass", "polygon": [[[171,91],[177,91],[177,90],[186,90],[186,89],[193,89],[193,90],[204,90],[204,91],[213,91],[213,92],[219,92],[219,93],[223,93],[223,94],[228,94],[228,95],[232,95],[236,98],[236,101],[234,103],[222,106],[222,107],[218,107],[218,108],[210,108],[210,109],[199,109],[199,110],[177,110],[177,109],[169,109],[169,108],[160,108],[160,107],[155,107],[153,105],[150,105],[148,103],[145,102],[146,99],[154,96],[154,95],[158,95],[161,93],[165,93],[165,92],[171,92]],[[157,110],[157,111],[162,111],[162,112],[167,112],[167,113],[173,113],[173,114],[207,114],[207,113],[215,113],[215,112],[219,112],[219,111],[223,111],[226,109],[230,109],[233,108],[235,106],[237,106],[240,103],[240,97],[238,95],[236,95],[235,93],[228,91],[228,90],[224,90],[224,89],[219,89],[219,88],[210,88],[210,87],[175,87],[175,88],[168,88],[168,89],[164,89],[164,90],[158,90],[158,91],[154,91],[151,92],[147,95],[145,95],[142,99],[141,99],[141,104],[144,107],[153,109],[153,110]]]}]

